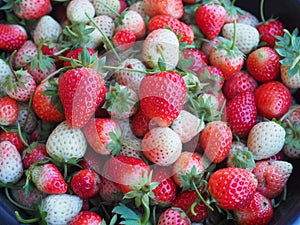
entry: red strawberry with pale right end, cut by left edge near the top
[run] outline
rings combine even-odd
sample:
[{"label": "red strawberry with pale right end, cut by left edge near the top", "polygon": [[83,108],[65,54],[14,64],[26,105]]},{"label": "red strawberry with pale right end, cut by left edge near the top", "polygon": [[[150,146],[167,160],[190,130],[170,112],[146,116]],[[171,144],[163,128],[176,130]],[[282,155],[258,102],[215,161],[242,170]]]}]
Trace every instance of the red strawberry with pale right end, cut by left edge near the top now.
[{"label": "red strawberry with pale right end, cut by left edge near the top", "polygon": [[13,51],[19,49],[27,40],[26,30],[20,25],[0,24],[0,49]]}]

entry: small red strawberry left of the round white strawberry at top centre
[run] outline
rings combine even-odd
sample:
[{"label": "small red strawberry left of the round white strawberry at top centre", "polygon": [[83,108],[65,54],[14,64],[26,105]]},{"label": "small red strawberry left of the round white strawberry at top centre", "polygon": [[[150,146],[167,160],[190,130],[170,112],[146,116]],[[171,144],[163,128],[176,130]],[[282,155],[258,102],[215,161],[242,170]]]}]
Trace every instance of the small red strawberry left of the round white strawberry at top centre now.
[{"label": "small red strawberry left of the round white strawberry at top centre", "polygon": [[131,30],[119,30],[115,33],[112,43],[118,51],[130,49],[135,43],[136,37]]}]

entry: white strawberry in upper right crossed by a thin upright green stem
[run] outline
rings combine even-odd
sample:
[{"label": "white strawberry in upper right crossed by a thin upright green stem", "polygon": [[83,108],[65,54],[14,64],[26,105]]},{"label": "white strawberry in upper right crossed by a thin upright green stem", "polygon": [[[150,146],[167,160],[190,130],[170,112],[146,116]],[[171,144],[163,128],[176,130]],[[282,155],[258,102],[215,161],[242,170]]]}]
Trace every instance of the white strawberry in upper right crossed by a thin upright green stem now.
[{"label": "white strawberry in upper right crossed by a thin upright green stem", "polygon": [[[222,35],[233,40],[234,37],[234,25],[233,23],[227,23],[222,28]],[[259,33],[255,27],[248,24],[237,23],[236,24],[236,47],[244,54],[248,54],[253,50],[259,42]]]}]

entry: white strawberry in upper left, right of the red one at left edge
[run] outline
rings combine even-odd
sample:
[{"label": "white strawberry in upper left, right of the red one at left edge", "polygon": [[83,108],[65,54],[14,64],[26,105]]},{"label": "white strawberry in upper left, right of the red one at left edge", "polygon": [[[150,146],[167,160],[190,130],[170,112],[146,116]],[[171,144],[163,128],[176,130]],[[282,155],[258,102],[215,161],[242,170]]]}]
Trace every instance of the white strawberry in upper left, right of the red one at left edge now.
[{"label": "white strawberry in upper left, right of the red one at left edge", "polygon": [[38,45],[42,39],[55,43],[61,32],[62,27],[55,19],[49,15],[43,16],[33,31],[34,43]]}]

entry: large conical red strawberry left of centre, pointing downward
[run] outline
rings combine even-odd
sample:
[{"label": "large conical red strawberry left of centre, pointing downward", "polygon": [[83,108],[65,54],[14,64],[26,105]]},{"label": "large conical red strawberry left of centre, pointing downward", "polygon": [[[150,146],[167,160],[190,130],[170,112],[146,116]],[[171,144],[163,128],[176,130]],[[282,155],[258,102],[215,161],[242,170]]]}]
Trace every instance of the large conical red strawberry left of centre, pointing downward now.
[{"label": "large conical red strawberry left of centre, pointing downward", "polygon": [[88,122],[103,101],[106,87],[98,71],[77,68],[62,75],[58,91],[67,121],[78,129]]}]

